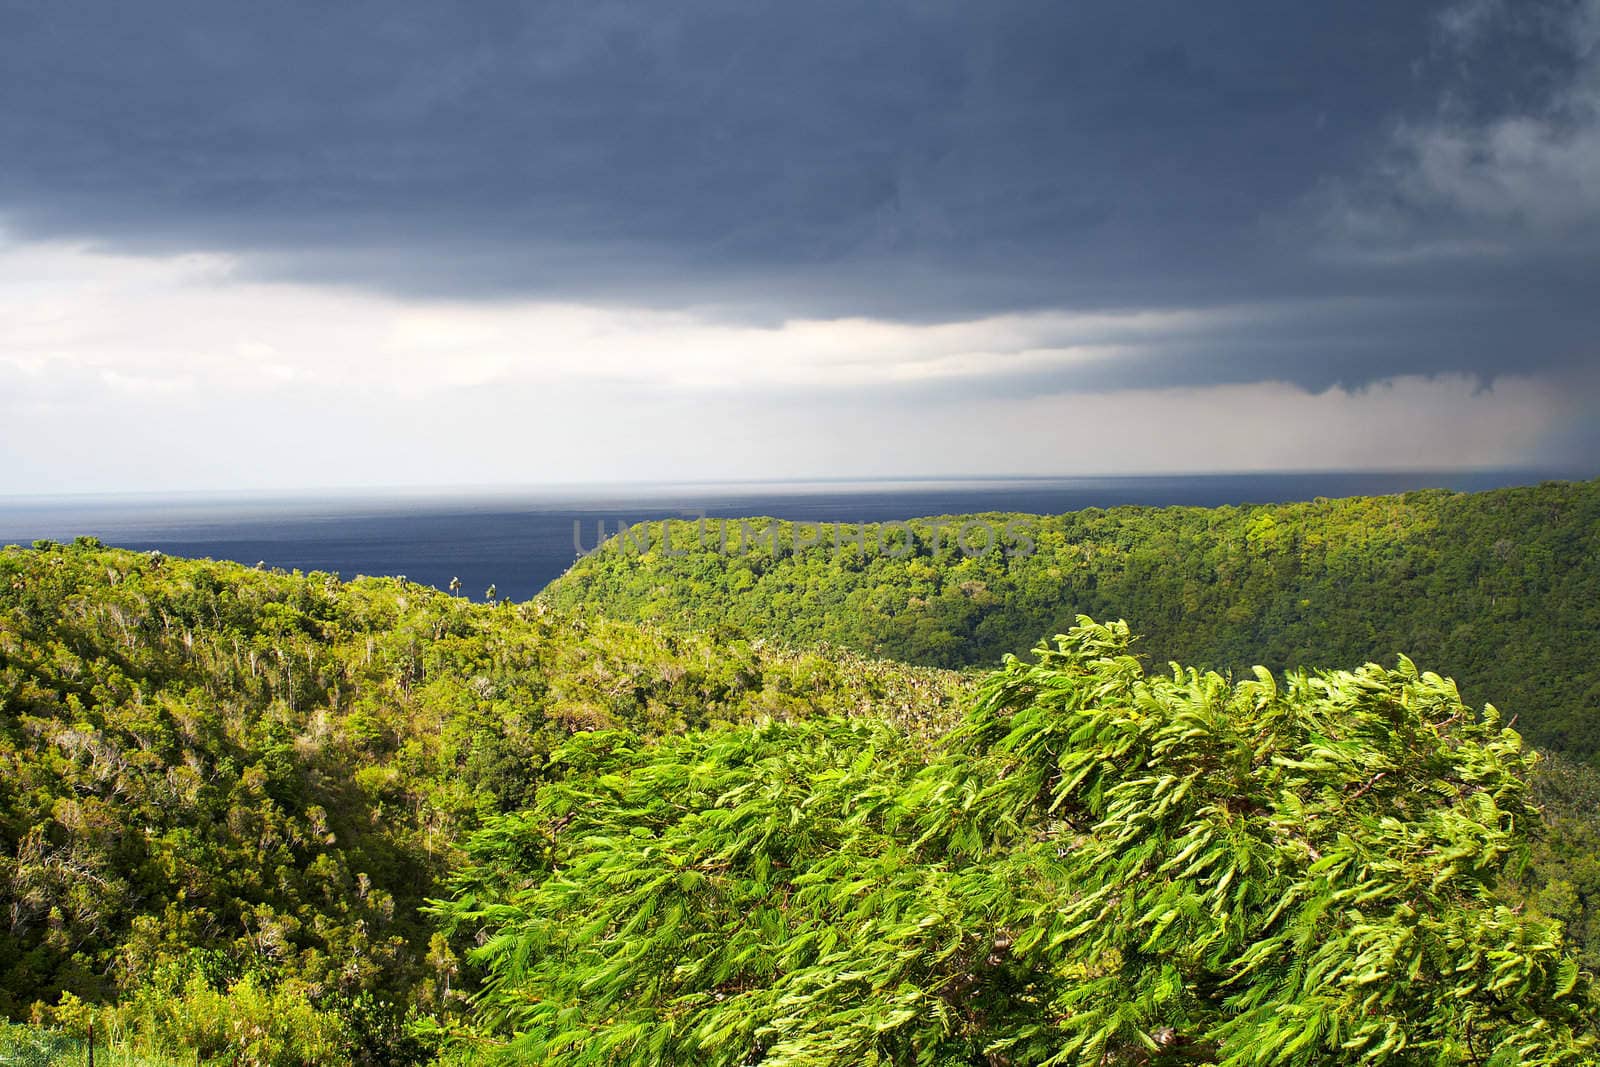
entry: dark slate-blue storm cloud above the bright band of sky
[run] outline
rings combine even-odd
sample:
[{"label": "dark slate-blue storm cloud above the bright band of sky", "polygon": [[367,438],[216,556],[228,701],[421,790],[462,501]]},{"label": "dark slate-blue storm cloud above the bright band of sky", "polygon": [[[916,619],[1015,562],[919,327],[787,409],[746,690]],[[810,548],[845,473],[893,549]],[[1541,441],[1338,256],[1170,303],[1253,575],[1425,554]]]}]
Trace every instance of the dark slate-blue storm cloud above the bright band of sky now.
[{"label": "dark slate-blue storm cloud above the bright band of sky", "polygon": [[1582,13],[0,0],[0,218],[755,320],[1278,307],[1029,389],[1488,379],[1592,358],[1587,194],[1541,229],[1466,173],[1595,123]]}]

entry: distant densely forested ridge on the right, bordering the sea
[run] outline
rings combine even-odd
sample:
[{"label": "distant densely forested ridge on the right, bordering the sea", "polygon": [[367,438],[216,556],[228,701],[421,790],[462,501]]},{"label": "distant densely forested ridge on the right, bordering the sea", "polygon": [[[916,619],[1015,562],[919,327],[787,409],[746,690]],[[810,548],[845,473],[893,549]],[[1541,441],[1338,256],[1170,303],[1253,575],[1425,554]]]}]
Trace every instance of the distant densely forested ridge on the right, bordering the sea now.
[{"label": "distant densely forested ridge on the right, bordering the sea", "polygon": [[1534,744],[1592,758],[1597,589],[1600,482],[1587,482],[909,528],[682,522],[670,552],[640,526],[542,600],[944,667],[1026,653],[1078,613],[1128,619],[1150,664],[1285,669],[1405,651],[1470,702],[1512,709]]}]

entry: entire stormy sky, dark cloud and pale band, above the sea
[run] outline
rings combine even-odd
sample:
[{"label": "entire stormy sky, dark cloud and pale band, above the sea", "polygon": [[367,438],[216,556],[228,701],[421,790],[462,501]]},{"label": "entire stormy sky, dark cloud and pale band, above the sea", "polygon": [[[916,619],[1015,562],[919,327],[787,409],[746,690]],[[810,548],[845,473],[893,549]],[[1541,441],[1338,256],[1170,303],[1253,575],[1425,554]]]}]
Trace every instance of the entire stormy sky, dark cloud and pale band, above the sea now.
[{"label": "entire stormy sky, dark cloud and pale band, above the sea", "polygon": [[1600,470],[1600,0],[0,0],[0,491]]}]

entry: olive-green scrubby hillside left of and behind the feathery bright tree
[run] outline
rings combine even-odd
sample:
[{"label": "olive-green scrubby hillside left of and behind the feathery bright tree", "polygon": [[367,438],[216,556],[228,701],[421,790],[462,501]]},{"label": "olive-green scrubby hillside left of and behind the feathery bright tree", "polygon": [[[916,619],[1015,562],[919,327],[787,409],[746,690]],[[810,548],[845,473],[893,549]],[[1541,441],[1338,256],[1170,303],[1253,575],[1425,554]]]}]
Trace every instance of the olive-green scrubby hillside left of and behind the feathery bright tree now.
[{"label": "olive-green scrubby hillside left of and behind the feathery bright tree", "polygon": [[[0,1017],[254,973],[282,998],[261,1014],[315,1006],[389,1062],[398,1019],[459,1011],[469,979],[418,907],[576,731],[931,721],[963,691],[848,653],[712,646],[394,579],[6,549]],[[203,1029],[200,1008],[179,1014]]]}]

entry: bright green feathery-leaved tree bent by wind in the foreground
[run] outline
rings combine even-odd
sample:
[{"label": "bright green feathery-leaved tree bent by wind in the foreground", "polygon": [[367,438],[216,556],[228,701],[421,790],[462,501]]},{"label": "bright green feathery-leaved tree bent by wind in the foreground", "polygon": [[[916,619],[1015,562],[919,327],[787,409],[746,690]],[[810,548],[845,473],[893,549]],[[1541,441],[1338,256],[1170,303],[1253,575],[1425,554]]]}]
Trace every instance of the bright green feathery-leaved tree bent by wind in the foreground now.
[{"label": "bright green feathery-leaved tree bent by wind in the foreground", "polygon": [[872,721],[590,734],[446,925],[549,1064],[1579,1064],[1595,993],[1498,880],[1494,709],[1395,669],[1006,661],[931,755]]}]

